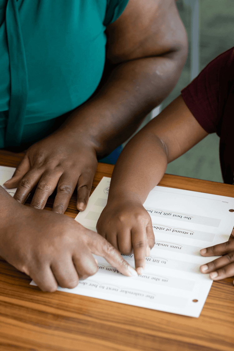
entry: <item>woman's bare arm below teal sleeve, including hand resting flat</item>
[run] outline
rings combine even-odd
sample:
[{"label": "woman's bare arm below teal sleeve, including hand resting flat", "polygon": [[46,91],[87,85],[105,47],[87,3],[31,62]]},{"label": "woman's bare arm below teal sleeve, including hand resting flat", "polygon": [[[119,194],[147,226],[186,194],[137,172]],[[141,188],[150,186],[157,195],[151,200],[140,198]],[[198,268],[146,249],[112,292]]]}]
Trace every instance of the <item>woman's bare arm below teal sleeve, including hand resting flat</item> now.
[{"label": "woman's bare arm below teal sleeve, including hand resting flat", "polygon": [[31,206],[44,208],[58,185],[53,211],[64,213],[77,186],[77,208],[84,210],[96,153],[101,158],[126,141],[178,81],[187,36],[171,0],[129,0],[106,34],[106,70],[93,97],[73,110],[63,130],[31,146],[5,183],[18,187],[20,203],[38,184]]}]

